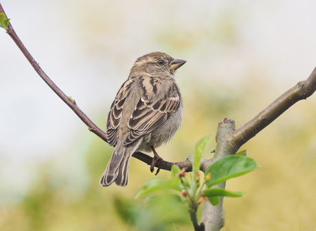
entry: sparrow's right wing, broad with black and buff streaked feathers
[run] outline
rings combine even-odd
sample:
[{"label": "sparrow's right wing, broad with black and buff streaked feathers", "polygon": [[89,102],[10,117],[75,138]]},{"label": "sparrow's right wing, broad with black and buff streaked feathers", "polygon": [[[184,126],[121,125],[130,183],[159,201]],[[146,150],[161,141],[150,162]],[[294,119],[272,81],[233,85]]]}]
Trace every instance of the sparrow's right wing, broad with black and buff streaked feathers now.
[{"label": "sparrow's right wing, broad with black and buff streaked feathers", "polygon": [[155,130],[179,109],[181,103],[179,89],[171,80],[142,77],[139,83],[139,90],[143,92],[128,120],[131,131],[125,137],[124,145]]}]

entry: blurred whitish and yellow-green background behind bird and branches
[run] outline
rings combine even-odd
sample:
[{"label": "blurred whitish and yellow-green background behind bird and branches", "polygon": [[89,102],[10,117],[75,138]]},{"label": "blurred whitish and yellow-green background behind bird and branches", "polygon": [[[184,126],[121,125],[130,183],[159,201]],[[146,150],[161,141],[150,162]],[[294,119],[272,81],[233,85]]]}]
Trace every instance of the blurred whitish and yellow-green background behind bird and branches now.
[{"label": "blurred whitish and yellow-green background behind bird and branches", "polygon": [[[45,72],[104,129],[117,89],[139,56],[166,52],[178,71],[181,130],[158,149],[192,155],[223,118],[238,128],[316,65],[316,2],[3,0]],[[135,193],[158,176],[132,159],[125,188],[99,186],[113,148],[43,83],[0,32],[0,230],[192,230],[185,206],[145,206]],[[242,149],[261,168],[227,182],[223,230],[316,227],[316,97],[298,102]],[[201,208],[199,209],[201,213]]]}]

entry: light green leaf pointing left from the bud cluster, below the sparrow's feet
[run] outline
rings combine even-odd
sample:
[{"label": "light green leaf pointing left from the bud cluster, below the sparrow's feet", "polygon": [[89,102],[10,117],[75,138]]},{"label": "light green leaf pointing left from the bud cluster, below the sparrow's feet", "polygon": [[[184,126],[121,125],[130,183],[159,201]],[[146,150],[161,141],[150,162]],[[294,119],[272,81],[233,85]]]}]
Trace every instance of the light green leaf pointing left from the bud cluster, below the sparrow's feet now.
[{"label": "light green leaf pointing left from the bud cluster, below the sparrow's feet", "polygon": [[151,179],[146,181],[145,186],[136,193],[135,198],[168,188],[181,191],[180,179]]}]

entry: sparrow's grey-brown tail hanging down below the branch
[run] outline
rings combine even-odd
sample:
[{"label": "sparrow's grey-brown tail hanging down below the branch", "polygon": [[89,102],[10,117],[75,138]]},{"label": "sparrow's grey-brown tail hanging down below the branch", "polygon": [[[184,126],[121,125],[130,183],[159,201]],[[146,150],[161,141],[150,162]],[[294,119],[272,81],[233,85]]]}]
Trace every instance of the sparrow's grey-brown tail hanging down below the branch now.
[{"label": "sparrow's grey-brown tail hanging down below the branch", "polygon": [[115,181],[118,186],[126,186],[129,163],[137,147],[138,144],[124,146],[123,142],[117,142],[106,170],[100,179],[100,185],[109,186]]}]

